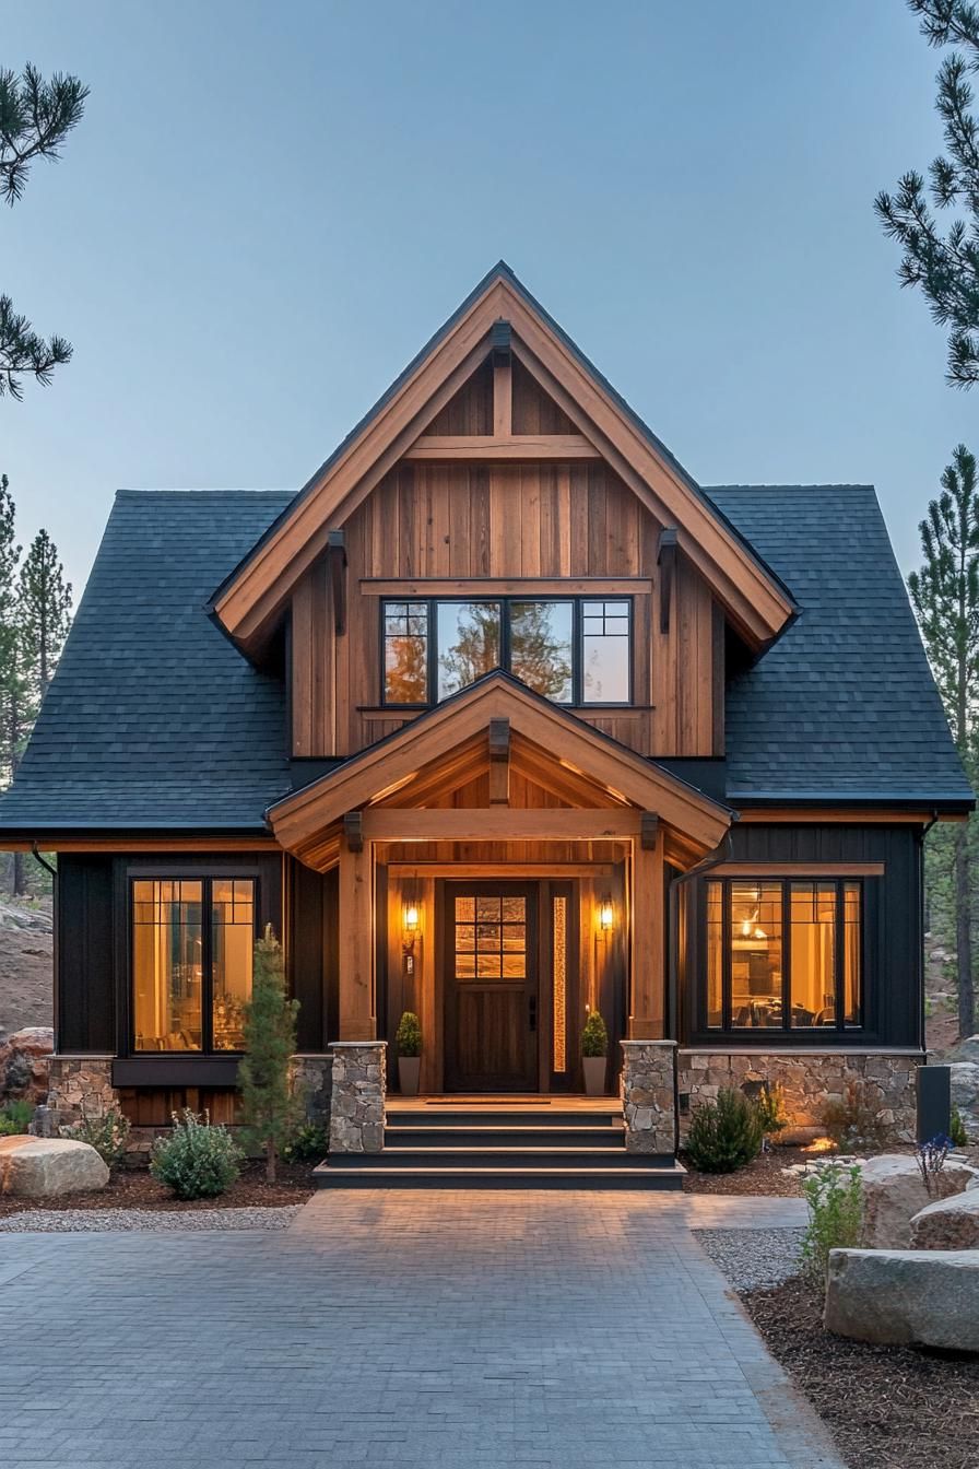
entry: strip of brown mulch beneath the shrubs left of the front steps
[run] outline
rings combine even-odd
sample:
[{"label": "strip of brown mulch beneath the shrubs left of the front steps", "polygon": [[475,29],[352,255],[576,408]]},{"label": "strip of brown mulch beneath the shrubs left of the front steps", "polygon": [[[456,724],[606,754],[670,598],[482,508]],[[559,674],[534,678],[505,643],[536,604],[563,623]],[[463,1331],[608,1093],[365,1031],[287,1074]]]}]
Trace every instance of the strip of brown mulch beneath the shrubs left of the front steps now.
[{"label": "strip of brown mulch beneath the shrubs left of the front steps", "polygon": [[0,1197],[0,1218],[22,1209],[251,1209],[305,1203],[313,1193],[313,1163],[279,1163],[279,1178],[266,1183],[266,1165],[248,1162],[241,1177],[217,1199],[175,1199],[170,1190],[156,1181],[145,1168],[114,1168],[112,1180],[100,1193],[63,1194],[60,1199]]}]

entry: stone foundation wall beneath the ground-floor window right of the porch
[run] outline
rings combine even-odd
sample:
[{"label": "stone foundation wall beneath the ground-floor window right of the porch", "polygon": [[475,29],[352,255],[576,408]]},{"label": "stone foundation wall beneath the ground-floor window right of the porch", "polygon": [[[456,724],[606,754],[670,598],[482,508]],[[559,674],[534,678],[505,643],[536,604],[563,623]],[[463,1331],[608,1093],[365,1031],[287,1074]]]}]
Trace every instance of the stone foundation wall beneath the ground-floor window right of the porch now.
[{"label": "stone foundation wall beneath the ground-floor window right of the porch", "polygon": [[882,1128],[914,1138],[914,1072],[920,1058],[840,1050],[719,1052],[681,1050],[678,1058],[680,1130],[690,1125],[699,1102],[716,1097],[721,1087],[779,1086],[790,1125],[778,1134],[784,1143],[810,1141],[823,1133],[826,1102],[842,1102],[851,1081],[865,1083],[865,1099],[876,1109]]}]

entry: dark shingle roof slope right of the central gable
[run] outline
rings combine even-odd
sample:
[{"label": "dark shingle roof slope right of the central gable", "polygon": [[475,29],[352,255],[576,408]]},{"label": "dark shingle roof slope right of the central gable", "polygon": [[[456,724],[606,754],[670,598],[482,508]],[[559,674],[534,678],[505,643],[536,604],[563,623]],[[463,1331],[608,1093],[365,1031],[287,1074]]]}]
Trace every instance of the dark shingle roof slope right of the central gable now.
[{"label": "dark shingle roof slope right of the central gable", "polygon": [[801,608],[728,689],[728,799],[967,801],[873,489],[728,485],[705,494]]}]

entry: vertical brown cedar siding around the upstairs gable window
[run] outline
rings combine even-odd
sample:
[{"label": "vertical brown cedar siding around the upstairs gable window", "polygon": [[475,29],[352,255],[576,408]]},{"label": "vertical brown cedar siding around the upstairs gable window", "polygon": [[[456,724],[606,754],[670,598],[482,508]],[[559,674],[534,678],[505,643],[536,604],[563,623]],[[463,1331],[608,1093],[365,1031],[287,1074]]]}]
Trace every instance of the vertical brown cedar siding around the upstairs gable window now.
[{"label": "vertical brown cedar siding around the upstairs gable window", "polygon": [[[490,420],[487,364],[439,413],[429,432],[487,433]],[[572,429],[517,366],[514,430]],[[335,633],[324,558],[307,571],[292,598],[295,757],[352,755],[414,717],[380,708],[380,595],[363,582],[417,583],[433,577],[461,583],[458,595],[480,595],[480,589],[464,583],[487,577],[567,582],[568,593],[587,592],[575,579],[605,577],[622,589],[637,579],[631,588],[636,708],[577,712],[643,755],[724,754],[722,614],[703,579],[680,557],[669,632],[660,632],[660,526],[605,463],[402,460],[343,530],[346,632]],[[481,589],[484,596],[492,593],[493,588]],[[405,595],[426,592],[407,585]]]}]

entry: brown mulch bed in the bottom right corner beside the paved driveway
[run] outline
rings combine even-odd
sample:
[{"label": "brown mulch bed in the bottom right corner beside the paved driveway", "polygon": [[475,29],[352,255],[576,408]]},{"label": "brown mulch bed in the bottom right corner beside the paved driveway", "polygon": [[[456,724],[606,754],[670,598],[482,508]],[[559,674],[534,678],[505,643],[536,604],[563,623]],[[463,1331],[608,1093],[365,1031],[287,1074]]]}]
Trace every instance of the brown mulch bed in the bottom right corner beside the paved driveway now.
[{"label": "brown mulch bed in the bottom right corner beside the paved driveway", "polygon": [[979,1359],[829,1335],[798,1278],[741,1300],[850,1469],[976,1469]]}]

